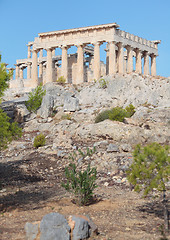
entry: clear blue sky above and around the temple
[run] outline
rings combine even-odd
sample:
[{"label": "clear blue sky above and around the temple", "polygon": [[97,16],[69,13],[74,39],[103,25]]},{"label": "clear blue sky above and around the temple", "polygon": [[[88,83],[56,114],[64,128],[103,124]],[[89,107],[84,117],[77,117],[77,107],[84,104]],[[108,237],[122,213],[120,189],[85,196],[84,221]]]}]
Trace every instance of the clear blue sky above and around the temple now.
[{"label": "clear blue sky above and around the temple", "polygon": [[157,74],[170,76],[170,0],[0,0],[0,52],[10,67],[27,58],[38,33],[116,22],[148,40],[162,40]]}]

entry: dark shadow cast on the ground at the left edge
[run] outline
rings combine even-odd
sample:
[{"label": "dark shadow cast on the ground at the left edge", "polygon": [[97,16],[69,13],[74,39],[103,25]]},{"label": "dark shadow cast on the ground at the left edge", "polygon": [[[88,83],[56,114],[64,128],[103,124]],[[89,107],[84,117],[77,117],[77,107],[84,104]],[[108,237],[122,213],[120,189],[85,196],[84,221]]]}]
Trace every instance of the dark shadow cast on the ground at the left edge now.
[{"label": "dark shadow cast on the ground at the left edge", "polygon": [[57,160],[37,153],[26,160],[0,163],[0,211],[41,207],[44,201],[64,193],[60,184],[63,169],[57,173],[50,170],[56,164]]}]

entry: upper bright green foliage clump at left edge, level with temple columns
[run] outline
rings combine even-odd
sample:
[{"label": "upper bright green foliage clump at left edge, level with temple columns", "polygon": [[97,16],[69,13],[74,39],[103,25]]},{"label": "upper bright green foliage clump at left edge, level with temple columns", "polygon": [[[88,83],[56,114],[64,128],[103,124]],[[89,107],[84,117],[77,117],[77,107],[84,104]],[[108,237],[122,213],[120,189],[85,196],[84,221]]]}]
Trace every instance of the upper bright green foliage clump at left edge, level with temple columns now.
[{"label": "upper bright green foliage clump at left edge, level with temple columns", "polygon": [[5,63],[1,62],[0,55],[0,97],[3,96],[3,92],[8,88],[8,82],[10,80],[12,72],[7,73]]}]

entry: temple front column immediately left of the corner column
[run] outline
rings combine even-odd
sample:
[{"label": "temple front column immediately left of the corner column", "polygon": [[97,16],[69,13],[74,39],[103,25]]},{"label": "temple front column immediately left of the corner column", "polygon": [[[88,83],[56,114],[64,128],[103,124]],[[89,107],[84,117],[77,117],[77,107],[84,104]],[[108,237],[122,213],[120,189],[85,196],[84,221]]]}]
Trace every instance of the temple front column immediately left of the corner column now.
[{"label": "temple front column immediately left of the corner column", "polygon": [[100,78],[100,43],[94,43],[94,79]]}]

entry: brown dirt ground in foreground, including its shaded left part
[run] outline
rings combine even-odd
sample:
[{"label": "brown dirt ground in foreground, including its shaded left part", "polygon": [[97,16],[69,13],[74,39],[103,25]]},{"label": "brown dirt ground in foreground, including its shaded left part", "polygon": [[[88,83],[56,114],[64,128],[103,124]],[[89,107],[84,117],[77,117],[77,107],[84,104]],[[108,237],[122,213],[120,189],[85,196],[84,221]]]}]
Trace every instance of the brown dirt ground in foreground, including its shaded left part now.
[{"label": "brown dirt ground in foreground, including its shaded left part", "polygon": [[72,201],[61,182],[64,178],[63,159],[37,152],[27,154],[21,161],[0,163],[0,239],[25,239],[26,222],[41,220],[50,212],[66,217],[88,214],[98,226],[93,240],[160,239],[163,224],[161,205],[123,184],[109,185],[100,181],[98,173],[97,201],[79,207]]}]

